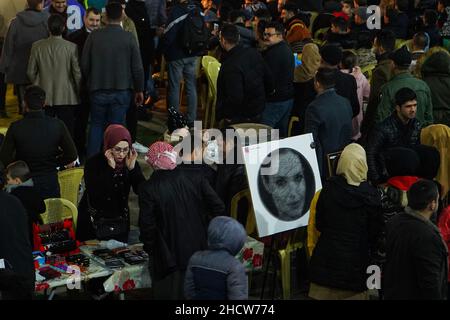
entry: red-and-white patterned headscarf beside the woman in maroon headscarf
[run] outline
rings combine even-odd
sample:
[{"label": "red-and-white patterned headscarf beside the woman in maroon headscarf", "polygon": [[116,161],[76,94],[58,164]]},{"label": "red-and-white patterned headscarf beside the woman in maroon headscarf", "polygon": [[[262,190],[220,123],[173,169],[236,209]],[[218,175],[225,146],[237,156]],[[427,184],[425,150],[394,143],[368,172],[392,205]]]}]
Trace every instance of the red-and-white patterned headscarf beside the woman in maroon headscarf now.
[{"label": "red-and-white patterned headscarf beside the woman in maroon headscarf", "polygon": [[148,148],[145,161],[155,170],[173,170],[177,166],[177,154],[172,145],[157,141]]}]

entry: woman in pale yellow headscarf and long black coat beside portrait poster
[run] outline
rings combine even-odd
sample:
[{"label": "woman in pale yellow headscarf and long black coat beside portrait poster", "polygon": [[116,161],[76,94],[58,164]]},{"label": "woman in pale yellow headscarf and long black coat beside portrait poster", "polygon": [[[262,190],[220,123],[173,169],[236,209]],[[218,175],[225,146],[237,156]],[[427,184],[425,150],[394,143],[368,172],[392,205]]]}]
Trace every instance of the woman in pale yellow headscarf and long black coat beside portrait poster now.
[{"label": "woman in pale yellow headscarf and long black coat beside portrait poster", "polygon": [[381,198],[367,182],[364,149],[345,147],[316,206],[320,237],[310,262],[309,296],[317,300],[367,299],[367,267],[380,232]]}]

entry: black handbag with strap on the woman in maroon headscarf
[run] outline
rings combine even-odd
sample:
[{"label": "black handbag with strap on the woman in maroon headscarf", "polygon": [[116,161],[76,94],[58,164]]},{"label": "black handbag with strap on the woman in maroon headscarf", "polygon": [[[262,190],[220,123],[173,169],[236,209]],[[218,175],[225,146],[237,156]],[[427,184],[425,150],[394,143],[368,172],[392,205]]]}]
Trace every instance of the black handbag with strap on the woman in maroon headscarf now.
[{"label": "black handbag with strap on the woman in maroon headscarf", "polygon": [[92,207],[89,201],[89,195],[86,193],[87,211],[91,217],[92,226],[95,231],[95,237],[98,240],[112,239],[118,235],[128,232],[127,215],[114,218],[104,218],[98,216],[98,210]]}]

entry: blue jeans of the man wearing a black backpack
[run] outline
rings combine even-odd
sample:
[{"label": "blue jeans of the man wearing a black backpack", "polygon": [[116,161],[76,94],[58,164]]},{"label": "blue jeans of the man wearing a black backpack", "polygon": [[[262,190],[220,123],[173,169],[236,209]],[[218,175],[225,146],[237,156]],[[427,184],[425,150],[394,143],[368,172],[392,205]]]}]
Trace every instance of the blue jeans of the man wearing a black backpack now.
[{"label": "blue jeans of the man wearing a black backpack", "polygon": [[197,57],[190,57],[168,62],[169,85],[167,88],[167,107],[175,110],[180,108],[180,83],[184,77],[186,95],[188,100],[188,112],[186,115],[188,124],[193,124],[197,117],[197,89],[196,66]]}]

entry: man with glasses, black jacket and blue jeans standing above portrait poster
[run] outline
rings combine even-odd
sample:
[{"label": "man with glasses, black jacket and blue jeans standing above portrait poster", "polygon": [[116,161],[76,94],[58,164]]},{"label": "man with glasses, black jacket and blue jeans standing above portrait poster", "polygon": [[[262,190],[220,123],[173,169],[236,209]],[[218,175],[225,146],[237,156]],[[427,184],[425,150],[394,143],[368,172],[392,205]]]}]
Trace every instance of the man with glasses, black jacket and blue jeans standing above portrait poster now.
[{"label": "man with glasses, black jacket and blue jeans standing above portrait poster", "polygon": [[279,22],[266,25],[264,40],[267,49],[263,56],[272,73],[275,92],[267,97],[262,123],[280,130],[286,137],[289,117],[294,104],[294,56],[283,40],[284,27]]}]

